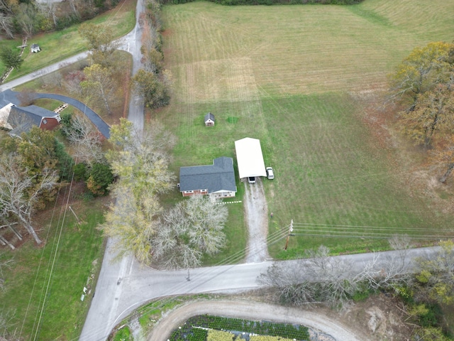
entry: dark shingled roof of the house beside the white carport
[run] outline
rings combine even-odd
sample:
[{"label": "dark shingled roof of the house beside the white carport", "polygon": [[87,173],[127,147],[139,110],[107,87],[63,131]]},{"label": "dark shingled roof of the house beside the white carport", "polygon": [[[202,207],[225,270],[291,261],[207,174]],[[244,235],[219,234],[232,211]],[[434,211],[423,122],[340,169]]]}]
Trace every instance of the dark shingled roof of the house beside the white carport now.
[{"label": "dark shingled roof of the house beside the white carport", "polygon": [[219,190],[236,192],[233,159],[226,156],[215,158],[213,165],[179,168],[179,190],[204,190],[208,193]]}]

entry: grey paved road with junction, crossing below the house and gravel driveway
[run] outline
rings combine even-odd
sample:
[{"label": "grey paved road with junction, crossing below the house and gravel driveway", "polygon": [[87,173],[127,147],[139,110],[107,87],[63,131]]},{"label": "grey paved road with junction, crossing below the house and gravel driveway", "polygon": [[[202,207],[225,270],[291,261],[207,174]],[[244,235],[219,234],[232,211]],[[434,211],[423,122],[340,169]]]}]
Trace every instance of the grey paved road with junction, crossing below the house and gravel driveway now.
[{"label": "grey paved road with junction, crossing below the house and gravel driveway", "polygon": [[[406,256],[407,264],[414,266],[414,259],[419,256],[431,256],[437,248],[411,249]],[[381,252],[378,263],[387,261],[387,257],[397,257],[399,251]],[[338,256],[353,262],[354,271],[360,272],[364,265],[374,259],[377,254],[353,254]],[[304,260],[300,262],[304,263]],[[298,261],[285,261],[286,266],[292,267]],[[109,332],[117,323],[144,303],[155,298],[163,298],[185,293],[238,293],[253,288],[260,288],[257,278],[264,273],[272,262],[265,261],[255,264],[238,264],[229,266],[214,266],[198,268],[190,271],[191,281],[187,281],[187,271],[157,271],[140,267],[136,261],[123,259],[120,264],[122,277],[120,283],[115,276],[104,278],[96,287],[98,291],[109,288],[104,281],[110,281],[108,302],[104,305],[109,310],[101,310],[97,318],[99,323],[93,323],[89,330],[84,328],[87,337],[81,340],[106,340]],[[103,266],[104,270],[104,266]],[[114,288],[114,289],[112,289]],[[109,301],[110,300],[110,301]],[[96,304],[95,300],[92,305]],[[102,322],[101,322],[102,321]],[[87,325],[87,323],[86,323]],[[88,337],[89,336],[89,337]]]}]

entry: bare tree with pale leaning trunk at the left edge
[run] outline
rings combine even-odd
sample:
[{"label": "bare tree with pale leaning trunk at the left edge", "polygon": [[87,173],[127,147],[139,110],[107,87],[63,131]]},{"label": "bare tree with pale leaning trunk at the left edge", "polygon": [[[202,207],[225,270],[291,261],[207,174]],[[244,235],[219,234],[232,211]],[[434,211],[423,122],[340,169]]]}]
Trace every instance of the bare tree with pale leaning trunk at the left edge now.
[{"label": "bare tree with pale leaning trunk at the left edge", "polygon": [[40,195],[57,185],[57,171],[44,168],[43,173],[30,175],[20,166],[18,158],[0,161],[0,215],[13,215],[30,233],[37,244],[41,240],[32,226],[32,214]]}]

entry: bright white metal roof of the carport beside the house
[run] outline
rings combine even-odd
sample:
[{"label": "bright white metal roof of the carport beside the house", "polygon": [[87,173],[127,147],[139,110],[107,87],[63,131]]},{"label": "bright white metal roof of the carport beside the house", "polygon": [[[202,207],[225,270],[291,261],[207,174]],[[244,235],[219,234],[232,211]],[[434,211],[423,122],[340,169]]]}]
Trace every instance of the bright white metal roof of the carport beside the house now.
[{"label": "bright white metal roof of the carport beside the house", "polygon": [[235,151],[240,178],[267,175],[260,140],[245,137],[235,141]]}]

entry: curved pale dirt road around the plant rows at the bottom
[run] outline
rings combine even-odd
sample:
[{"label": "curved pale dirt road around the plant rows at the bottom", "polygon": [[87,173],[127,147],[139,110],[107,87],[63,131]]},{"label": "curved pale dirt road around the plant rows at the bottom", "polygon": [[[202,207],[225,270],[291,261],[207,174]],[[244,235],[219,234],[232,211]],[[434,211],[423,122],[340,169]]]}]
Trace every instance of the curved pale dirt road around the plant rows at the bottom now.
[{"label": "curved pale dirt road around the plant rows at the bottom", "polygon": [[178,325],[194,315],[220,315],[247,320],[267,320],[282,323],[306,325],[313,330],[323,330],[323,334],[316,335],[312,340],[362,341],[366,335],[358,335],[338,320],[329,318],[316,310],[302,310],[286,308],[281,305],[258,303],[253,301],[209,301],[192,302],[177,308],[162,318],[148,340],[167,341],[170,333]]}]

